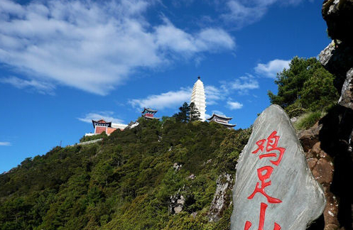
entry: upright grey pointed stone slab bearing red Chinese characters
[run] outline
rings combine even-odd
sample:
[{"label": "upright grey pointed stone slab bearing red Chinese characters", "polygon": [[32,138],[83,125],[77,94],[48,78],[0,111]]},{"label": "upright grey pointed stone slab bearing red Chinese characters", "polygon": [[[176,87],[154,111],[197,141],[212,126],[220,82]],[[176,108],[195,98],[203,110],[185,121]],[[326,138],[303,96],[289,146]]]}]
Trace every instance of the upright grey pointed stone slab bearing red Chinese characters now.
[{"label": "upright grey pointed stone slab bearing red Chinese characters", "polygon": [[232,230],[304,230],[325,208],[322,187],[280,106],[269,106],[254,123],[237,165],[233,204]]}]

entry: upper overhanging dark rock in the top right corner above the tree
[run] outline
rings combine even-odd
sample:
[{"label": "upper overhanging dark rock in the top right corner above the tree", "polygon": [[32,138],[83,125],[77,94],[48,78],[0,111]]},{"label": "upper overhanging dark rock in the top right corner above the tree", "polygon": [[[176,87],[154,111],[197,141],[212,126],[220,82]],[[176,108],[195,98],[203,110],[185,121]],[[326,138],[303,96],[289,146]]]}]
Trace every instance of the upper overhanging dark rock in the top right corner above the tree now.
[{"label": "upper overhanging dark rock in the top right corner above the tree", "polygon": [[320,62],[336,76],[341,92],[340,105],[353,109],[353,0],[328,0],[322,5],[322,17],[332,43],[320,53]]}]

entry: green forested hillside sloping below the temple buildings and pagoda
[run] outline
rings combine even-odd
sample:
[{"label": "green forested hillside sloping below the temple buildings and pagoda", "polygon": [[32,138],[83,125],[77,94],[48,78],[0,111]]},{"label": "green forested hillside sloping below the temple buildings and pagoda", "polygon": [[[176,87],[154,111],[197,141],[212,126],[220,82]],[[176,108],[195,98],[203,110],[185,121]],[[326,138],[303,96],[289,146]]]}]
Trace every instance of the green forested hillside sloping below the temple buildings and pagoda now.
[{"label": "green forested hillside sloping below the temple buildings and pagoda", "polygon": [[[229,229],[232,205],[219,221],[208,221],[207,212],[217,177],[234,175],[250,130],[139,122],[100,143],[55,147],[0,175],[0,229]],[[178,193],[185,207],[170,214]]]}]

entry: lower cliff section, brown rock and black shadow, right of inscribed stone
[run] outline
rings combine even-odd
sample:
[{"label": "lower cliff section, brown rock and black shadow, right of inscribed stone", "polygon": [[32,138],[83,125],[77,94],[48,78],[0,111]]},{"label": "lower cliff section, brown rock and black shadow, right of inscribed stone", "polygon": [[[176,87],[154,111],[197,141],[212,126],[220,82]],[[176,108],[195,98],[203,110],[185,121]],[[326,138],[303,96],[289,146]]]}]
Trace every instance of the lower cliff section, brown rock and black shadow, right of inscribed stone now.
[{"label": "lower cliff section, brown rock and black shadow, right of inscribed stone", "polygon": [[324,188],[325,230],[353,229],[352,189],[347,187],[353,183],[352,177],[347,176],[353,175],[352,128],[353,111],[338,106],[298,135],[308,166]]}]

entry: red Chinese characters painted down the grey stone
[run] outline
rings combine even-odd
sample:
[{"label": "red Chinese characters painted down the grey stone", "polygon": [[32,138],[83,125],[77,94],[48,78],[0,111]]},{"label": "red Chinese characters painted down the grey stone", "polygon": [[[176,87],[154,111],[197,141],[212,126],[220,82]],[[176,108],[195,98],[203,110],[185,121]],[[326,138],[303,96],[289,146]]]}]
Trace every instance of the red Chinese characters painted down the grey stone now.
[{"label": "red Chinese characters painted down the grey stone", "polygon": [[[286,151],[286,148],[278,147],[278,140],[280,136],[276,135],[277,131],[273,131],[270,136],[266,139],[261,139],[259,141],[256,141],[256,146],[257,149],[254,150],[252,153],[256,154],[261,151],[261,154],[259,155],[259,158],[277,158],[276,160],[270,160],[270,162],[273,165],[278,166],[279,163],[281,163],[281,160],[283,158],[283,154]],[[265,143],[266,143],[266,148],[265,148]],[[265,153],[264,150],[266,150]],[[265,188],[271,185],[271,174],[273,172],[273,167],[271,165],[266,165],[264,167],[258,168],[257,169],[257,176],[259,177],[260,182],[256,183],[256,187],[254,189],[254,192],[249,195],[248,199],[253,199],[254,196],[259,193],[261,195],[264,195],[266,197],[267,202],[271,204],[278,204],[281,203],[281,199],[271,197],[265,192]],[[266,208],[268,207],[268,204],[261,202],[261,208],[260,208],[260,217],[259,217],[259,229],[258,230],[264,230],[264,222],[265,222],[265,214],[266,214]],[[244,230],[249,230],[251,228],[251,222],[246,221]],[[280,230],[281,226],[277,224],[276,222],[274,223],[273,230]]]}]

